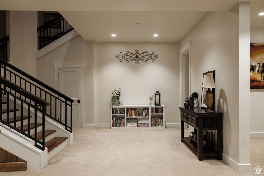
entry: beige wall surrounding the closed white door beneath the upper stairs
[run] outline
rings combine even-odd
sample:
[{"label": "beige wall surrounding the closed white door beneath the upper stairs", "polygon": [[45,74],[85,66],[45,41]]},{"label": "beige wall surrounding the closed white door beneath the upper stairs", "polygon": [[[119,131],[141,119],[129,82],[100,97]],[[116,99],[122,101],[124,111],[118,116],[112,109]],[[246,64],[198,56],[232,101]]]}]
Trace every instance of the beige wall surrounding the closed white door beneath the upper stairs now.
[{"label": "beige wall surrounding the closed white door beneath the upper stairs", "polygon": [[62,44],[36,61],[37,79],[55,88],[54,63],[84,63],[84,122],[94,124],[94,42],[81,36]]}]

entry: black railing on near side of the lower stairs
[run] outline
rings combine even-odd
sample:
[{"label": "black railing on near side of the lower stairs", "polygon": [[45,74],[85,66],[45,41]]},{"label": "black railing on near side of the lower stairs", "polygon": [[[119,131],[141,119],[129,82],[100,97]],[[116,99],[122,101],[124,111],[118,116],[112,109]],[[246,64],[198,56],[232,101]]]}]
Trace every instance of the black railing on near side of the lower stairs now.
[{"label": "black railing on near side of the lower stairs", "polygon": [[[49,102],[44,101],[43,99],[35,96],[34,94],[26,91],[25,89],[17,86],[16,84],[8,81],[7,79],[0,77],[0,122],[5,124],[6,126],[20,132],[21,134],[29,137],[30,139],[35,141],[34,146],[45,150],[45,130],[42,131],[42,141],[37,139],[37,113],[42,114],[42,127],[45,129],[45,107],[49,106]],[[7,99],[7,109],[3,110],[2,103],[3,103],[3,94],[6,96]],[[26,101],[25,99],[30,99],[30,102]],[[9,101],[13,99],[13,101]],[[20,103],[20,110],[21,110],[21,117],[17,116],[17,103]],[[23,108],[26,106],[26,112],[23,113]],[[10,106],[14,107],[11,109]],[[34,108],[34,128],[35,128],[35,135],[34,137],[30,136],[30,107]],[[4,111],[7,113],[7,118],[3,119]],[[25,111],[25,110],[24,110]],[[9,112],[14,112],[14,125],[11,123],[11,118],[9,117]],[[27,115],[25,115],[27,114]],[[27,117],[28,123],[27,126],[23,126],[23,119]],[[21,118],[21,126],[17,127],[16,119]],[[23,129],[25,128],[25,130]]]}]

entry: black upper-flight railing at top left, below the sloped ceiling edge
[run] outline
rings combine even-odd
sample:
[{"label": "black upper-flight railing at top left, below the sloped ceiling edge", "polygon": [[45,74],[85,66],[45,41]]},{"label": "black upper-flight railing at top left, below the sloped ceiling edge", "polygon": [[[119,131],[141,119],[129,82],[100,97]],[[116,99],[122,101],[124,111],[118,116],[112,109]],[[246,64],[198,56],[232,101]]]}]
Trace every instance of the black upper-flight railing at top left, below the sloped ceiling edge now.
[{"label": "black upper-flight railing at top left, below the sloped ceiling edge", "polygon": [[59,14],[49,22],[37,28],[39,34],[39,50],[51,42],[69,33],[74,28]]}]

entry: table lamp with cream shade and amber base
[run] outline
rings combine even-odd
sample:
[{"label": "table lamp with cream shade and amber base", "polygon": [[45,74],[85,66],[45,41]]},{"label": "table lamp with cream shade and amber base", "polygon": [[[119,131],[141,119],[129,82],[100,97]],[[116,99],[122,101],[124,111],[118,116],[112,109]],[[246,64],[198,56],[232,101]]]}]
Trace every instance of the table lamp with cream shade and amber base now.
[{"label": "table lamp with cream shade and amber base", "polygon": [[208,73],[204,74],[204,78],[203,78],[203,82],[202,82],[202,89],[204,89],[204,88],[208,88],[208,90],[206,91],[206,94],[205,94],[205,103],[206,103],[206,107],[207,107],[205,112],[214,112],[214,110],[212,109],[213,94],[212,94],[212,91],[210,90],[210,88],[216,88],[215,83],[214,83],[213,73],[208,72]]}]

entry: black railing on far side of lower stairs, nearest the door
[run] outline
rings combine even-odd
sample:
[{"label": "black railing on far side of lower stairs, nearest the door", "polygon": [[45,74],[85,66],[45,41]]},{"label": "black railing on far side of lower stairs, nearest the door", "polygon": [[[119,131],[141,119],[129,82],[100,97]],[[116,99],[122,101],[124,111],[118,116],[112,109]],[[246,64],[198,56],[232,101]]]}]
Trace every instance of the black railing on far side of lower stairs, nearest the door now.
[{"label": "black railing on far side of lower stairs, nearest the door", "polygon": [[[8,79],[14,84],[22,87],[30,93],[49,102],[49,107],[45,107],[45,116],[50,117],[52,120],[58,122],[65,127],[65,130],[72,132],[72,103],[73,99],[46,85],[40,80],[32,77],[31,75],[23,72],[8,62],[0,59],[1,68],[4,69],[2,77]],[[6,88],[4,88],[6,89]],[[11,90],[10,90],[11,92]],[[16,93],[14,93],[16,95]],[[19,95],[19,98],[28,103],[32,100]]]}]

